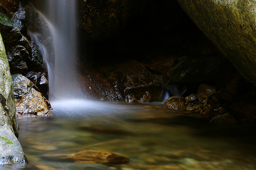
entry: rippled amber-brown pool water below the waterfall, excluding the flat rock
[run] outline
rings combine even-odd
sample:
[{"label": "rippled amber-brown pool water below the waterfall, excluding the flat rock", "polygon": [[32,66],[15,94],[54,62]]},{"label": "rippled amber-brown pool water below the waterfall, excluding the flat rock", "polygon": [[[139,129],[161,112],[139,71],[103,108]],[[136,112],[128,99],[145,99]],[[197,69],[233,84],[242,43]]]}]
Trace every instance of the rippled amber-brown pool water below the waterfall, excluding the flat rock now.
[{"label": "rippled amber-brown pool water below the waterfall, excluding the flat rock", "polygon": [[[62,101],[52,106],[52,117],[18,118],[19,141],[29,163],[41,169],[256,169],[252,126],[211,125],[207,118],[158,103]],[[63,159],[86,149],[131,162]]]}]

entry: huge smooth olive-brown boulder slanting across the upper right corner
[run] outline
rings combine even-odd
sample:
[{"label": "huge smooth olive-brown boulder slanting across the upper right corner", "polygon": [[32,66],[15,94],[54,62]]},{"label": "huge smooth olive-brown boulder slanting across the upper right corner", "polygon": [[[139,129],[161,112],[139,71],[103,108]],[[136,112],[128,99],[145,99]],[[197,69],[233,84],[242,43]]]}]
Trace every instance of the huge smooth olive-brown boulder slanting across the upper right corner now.
[{"label": "huge smooth olive-brown boulder slanting across the upper right corner", "polygon": [[178,2],[241,75],[256,85],[256,1]]}]

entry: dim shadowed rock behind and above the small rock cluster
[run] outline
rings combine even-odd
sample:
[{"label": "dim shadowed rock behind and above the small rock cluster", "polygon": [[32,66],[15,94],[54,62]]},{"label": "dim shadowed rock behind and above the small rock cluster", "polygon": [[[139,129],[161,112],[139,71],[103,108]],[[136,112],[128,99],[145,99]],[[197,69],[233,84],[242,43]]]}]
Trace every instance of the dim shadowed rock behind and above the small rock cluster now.
[{"label": "dim shadowed rock behind and above the small rock cluster", "polygon": [[164,84],[212,82],[232,69],[232,64],[223,56],[181,57],[163,74],[162,81]]}]

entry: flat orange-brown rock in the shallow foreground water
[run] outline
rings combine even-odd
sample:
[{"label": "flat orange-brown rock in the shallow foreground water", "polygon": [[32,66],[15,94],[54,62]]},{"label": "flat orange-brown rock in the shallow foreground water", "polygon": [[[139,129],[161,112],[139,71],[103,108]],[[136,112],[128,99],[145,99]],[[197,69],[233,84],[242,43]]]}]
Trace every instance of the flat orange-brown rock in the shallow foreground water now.
[{"label": "flat orange-brown rock in the shallow foreground water", "polygon": [[84,150],[73,153],[68,156],[68,159],[72,159],[79,163],[128,163],[130,160],[123,156],[94,150]]}]

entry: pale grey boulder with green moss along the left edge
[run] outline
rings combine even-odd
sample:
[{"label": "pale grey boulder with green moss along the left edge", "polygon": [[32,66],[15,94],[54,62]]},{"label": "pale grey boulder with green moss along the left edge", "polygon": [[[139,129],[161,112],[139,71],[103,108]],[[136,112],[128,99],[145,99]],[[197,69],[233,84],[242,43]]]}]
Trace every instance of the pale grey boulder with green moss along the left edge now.
[{"label": "pale grey boulder with green moss along the left edge", "polygon": [[0,34],[0,164],[26,163],[20,145],[12,80],[5,47]]}]

